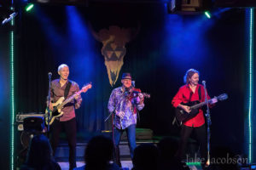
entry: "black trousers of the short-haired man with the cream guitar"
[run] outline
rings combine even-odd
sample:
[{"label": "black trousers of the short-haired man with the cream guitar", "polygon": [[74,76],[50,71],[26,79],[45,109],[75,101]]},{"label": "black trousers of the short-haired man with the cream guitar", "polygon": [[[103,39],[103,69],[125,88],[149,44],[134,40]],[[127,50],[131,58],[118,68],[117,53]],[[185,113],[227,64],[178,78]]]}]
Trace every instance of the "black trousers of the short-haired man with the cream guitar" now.
[{"label": "black trousers of the short-haired man with the cream guitar", "polygon": [[77,122],[73,118],[67,122],[60,122],[55,120],[51,125],[51,146],[55,156],[55,150],[59,144],[59,135],[61,130],[64,129],[67,134],[67,142],[69,146],[69,168],[77,167],[76,165],[76,144],[77,144]]}]

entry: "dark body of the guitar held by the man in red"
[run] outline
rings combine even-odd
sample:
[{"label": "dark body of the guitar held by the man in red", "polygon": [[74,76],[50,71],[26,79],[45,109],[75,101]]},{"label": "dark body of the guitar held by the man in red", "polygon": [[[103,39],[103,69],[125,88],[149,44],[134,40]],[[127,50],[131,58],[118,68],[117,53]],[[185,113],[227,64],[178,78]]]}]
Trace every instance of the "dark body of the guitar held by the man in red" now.
[{"label": "dark body of the guitar held by the man in red", "polygon": [[[199,104],[199,101],[192,101],[189,103],[181,103],[181,105],[188,105],[189,107],[193,105]],[[175,116],[178,122],[186,122],[189,119],[195,117],[198,114],[199,110],[198,109],[192,109],[189,113],[184,111],[183,109],[177,107],[175,110]]]}]

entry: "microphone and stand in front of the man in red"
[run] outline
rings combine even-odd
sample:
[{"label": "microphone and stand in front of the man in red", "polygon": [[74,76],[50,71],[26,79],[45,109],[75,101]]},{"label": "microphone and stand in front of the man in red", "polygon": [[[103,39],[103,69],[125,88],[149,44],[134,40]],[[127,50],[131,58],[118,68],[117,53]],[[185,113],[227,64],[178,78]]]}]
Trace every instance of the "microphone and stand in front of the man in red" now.
[{"label": "microphone and stand in front of the man in red", "polygon": [[205,90],[205,95],[206,95],[206,99],[205,101],[207,102],[207,166],[210,165],[210,138],[211,138],[211,132],[210,132],[210,126],[212,124],[211,121],[211,115],[210,115],[210,109],[209,109],[209,103],[208,103],[208,99],[207,99],[207,85],[206,85],[206,81],[202,81],[202,84],[204,85],[204,90]]}]

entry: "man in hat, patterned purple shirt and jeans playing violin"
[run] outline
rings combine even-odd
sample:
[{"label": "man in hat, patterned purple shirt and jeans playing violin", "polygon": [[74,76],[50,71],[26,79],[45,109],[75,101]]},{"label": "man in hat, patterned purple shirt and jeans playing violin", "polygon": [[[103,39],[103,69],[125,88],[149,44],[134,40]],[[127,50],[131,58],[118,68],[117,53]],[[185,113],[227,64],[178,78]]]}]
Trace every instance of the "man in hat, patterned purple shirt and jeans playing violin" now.
[{"label": "man in hat, patterned purple shirt and jeans playing violin", "polygon": [[115,145],[115,162],[121,167],[119,158],[119,141],[124,131],[127,133],[131,159],[136,148],[137,111],[144,107],[144,96],[140,89],[131,85],[131,74],[123,73],[122,86],[113,89],[108,101],[108,111],[113,112],[113,143]]}]

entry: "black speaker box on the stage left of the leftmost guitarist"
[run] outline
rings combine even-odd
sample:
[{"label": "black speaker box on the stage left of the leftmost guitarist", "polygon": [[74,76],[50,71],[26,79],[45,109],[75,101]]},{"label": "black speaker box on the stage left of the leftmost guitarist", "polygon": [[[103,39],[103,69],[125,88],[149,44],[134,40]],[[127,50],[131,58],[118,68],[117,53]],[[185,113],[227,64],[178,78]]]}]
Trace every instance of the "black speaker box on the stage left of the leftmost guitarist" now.
[{"label": "black speaker box on the stage left of the leftmost guitarist", "polygon": [[29,116],[23,122],[24,131],[30,133],[42,132],[44,130],[44,117]]}]

